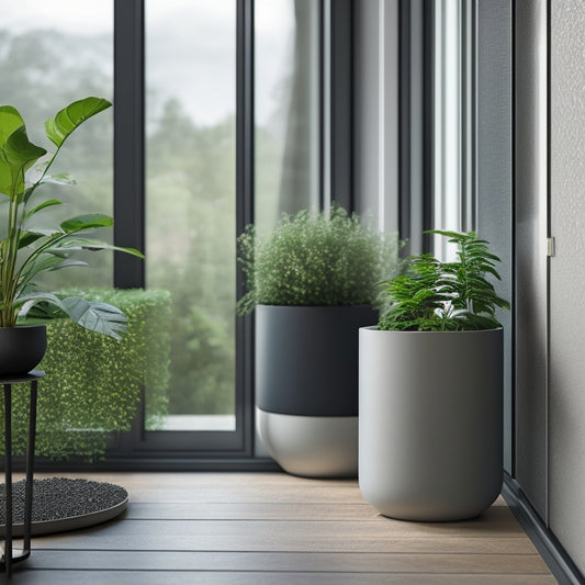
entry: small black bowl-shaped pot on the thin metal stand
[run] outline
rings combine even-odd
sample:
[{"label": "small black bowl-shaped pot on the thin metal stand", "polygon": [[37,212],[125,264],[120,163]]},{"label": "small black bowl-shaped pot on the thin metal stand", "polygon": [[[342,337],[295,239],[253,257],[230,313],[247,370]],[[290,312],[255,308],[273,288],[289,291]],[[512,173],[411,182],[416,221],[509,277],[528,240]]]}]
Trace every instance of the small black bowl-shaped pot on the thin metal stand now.
[{"label": "small black bowl-shaped pot on the thin metal stand", "polygon": [[45,325],[0,327],[0,376],[27,374],[41,362],[46,349]]}]

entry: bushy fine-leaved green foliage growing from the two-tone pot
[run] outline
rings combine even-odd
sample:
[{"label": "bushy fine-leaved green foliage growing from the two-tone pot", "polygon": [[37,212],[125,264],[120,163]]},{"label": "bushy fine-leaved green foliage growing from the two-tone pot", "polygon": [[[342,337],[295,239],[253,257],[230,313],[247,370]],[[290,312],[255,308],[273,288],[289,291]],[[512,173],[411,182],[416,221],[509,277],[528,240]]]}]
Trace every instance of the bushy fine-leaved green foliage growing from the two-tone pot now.
[{"label": "bushy fine-leaved green foliage growing from the two-tone pot", "polygon": [[283,214],[269,234],[247,226],[238,238],[248,288],[238,313],[258,304],[372,304],[378,283],[396,271],[397,252],[396,234],[380,233],[339,206]]}]

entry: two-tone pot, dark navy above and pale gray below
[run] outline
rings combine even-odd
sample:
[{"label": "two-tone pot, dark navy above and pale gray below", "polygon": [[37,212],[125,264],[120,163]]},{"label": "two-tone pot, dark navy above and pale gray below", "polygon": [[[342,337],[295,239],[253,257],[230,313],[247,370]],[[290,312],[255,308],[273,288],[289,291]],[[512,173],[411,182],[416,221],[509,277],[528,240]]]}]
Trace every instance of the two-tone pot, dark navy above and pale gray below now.
[{"label": "two-tone pot, dark navy above and pale gray below", "polygon": [[369,306],[256,307],[258,432],[282,469],[358,473],[358,331]]}]

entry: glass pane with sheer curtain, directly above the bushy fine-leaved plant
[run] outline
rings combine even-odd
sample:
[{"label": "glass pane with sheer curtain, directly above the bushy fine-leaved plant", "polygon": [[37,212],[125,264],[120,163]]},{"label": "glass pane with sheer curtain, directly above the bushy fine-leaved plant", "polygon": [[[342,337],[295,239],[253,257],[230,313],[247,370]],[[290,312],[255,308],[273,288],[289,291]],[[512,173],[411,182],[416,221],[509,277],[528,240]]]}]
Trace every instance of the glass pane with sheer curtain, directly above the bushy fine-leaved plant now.
[{"label": "glass pane with sheer curtain, directly above the bushy fine-leaved plant", "polygon": [[319,2],[256,0],[256,224],[319,205]]}]

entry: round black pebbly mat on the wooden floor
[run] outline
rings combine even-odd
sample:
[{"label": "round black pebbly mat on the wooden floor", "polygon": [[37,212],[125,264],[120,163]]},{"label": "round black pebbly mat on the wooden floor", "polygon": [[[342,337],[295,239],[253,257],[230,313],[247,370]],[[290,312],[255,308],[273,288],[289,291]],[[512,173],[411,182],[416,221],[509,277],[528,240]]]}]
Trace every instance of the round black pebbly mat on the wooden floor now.
[{"label": "round black pebbly mat on the wooden floor", "polygon": [[[12,533],[23,533],[24,480],[12,484]],[[5,488],[0,485],[0,525],[4,518]],[[120,485],[88,480],[49,477],[33,481],[32,535],[77,530],[105,522],[124,511],[128,493]]]}]

